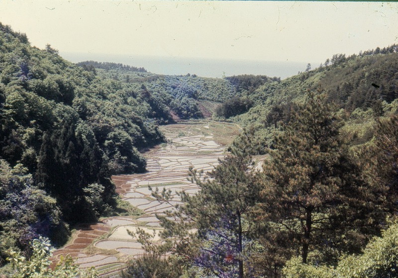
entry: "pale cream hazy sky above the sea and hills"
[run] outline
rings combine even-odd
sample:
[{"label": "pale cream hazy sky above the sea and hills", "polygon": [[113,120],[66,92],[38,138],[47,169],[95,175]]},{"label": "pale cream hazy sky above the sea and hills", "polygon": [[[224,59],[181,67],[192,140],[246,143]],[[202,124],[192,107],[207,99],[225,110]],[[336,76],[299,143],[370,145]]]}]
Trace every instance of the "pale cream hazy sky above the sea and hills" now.
[{"label": "pale cream hazy sky above the sea and hills", "polygon": [[0,0],[0,22],[61,53],[302,62],[398,43],[397,2]]}]

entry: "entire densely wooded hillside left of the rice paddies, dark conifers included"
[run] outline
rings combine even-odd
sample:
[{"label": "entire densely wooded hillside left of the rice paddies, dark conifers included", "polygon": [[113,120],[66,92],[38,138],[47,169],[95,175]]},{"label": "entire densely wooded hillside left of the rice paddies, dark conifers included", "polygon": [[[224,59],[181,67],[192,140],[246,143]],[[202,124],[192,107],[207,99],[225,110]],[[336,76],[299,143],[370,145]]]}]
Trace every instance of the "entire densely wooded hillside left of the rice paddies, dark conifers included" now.
[{"label": "entire densely wooded hillside left of the rice paddies, dark conifers included", "polygon": [[171,118],[145,90],[72,64],[50,45],[31,47],[1,24],[0,103],[1,264],[9,247],[28,251],[39,235],[61,244],[66,223],[112,211],[110,175],[144,171],[139,150],[163,142],[157,124]]}]

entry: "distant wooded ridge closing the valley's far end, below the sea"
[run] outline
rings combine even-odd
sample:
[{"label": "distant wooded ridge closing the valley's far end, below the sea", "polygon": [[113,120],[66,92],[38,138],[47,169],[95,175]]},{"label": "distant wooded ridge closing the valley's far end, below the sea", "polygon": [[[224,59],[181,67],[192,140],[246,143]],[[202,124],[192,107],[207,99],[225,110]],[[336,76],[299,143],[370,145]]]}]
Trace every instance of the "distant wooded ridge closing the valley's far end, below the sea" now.
[{"label": "distant wooded ridge closing the valley's far end, below the sea", "polygon": [[[254,75],[240,75],[218,78],[202,78],[197,75],[166,76],[147,73],[144,70],[115,63],[94,61],[80,62],[78,65],[95,71],[105,79],[118,80],[130,86],[135,92],[146,97],[151,106],[157,106],[154,117],[159,123],[170,123],[173,118],[189,119],[211,116],[225,119],[246,112],[252,105],[247,98],[261,85],[279,82],[280,78]],[[209,108],[208,102],[217,109]],[[203,104],[204,102],[204,104]],[[161,105],[159,105],[161,104]],[[165,120],[166,119],[166,120]]]}]

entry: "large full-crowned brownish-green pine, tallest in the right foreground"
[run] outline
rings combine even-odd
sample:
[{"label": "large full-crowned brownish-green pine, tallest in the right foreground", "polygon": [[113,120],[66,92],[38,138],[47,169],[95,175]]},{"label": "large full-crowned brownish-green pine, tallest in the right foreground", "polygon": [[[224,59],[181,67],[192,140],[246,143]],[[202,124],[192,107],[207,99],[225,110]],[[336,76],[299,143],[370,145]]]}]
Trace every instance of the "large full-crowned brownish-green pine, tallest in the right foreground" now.
[{"label": "large full-crowned brownish-green pine, tallest in the right foreground", "polygon": [[339,209],[361,196],[341,126],[325,95],[309,92],[276,136],[272,159],[263,167],[264,210],[299,243],[303,263],[316,240],[330,240],[327,230],[344,224]]}]

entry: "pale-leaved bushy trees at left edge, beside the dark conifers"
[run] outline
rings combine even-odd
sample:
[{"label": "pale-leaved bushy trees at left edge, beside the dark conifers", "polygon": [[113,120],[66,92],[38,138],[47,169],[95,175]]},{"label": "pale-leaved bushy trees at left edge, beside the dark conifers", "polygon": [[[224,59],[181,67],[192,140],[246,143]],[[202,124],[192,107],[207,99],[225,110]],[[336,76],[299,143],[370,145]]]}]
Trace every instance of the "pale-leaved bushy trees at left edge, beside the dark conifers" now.
[{"label": "pale-leaved bushy trees at left edge, beside the dark conifers", "polygon": [[69,230],[56,199],[35,186],[21,164],[11,168],[0,160],[0,166],[0,261],[5,262],[9,248],[31,254],[29,242],[40,235],[52,238],[55,244],[64,243]]}]

